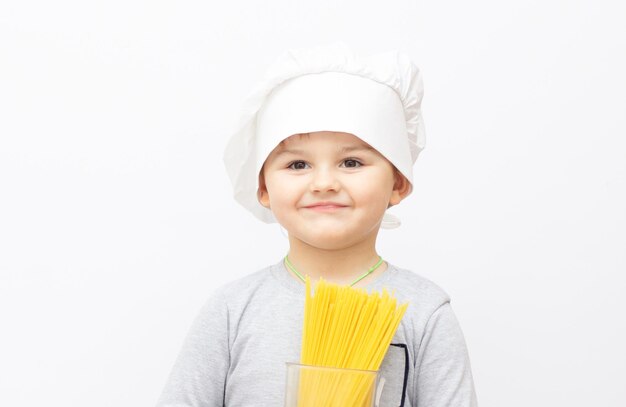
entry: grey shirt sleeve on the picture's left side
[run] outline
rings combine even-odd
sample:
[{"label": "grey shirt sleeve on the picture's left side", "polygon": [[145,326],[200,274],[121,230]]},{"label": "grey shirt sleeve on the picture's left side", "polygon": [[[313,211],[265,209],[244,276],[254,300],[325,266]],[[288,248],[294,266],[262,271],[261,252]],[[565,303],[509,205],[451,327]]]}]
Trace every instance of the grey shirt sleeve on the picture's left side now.
[{"label": "grey shirt sleeve on the picture's left side", "polygon": [[216,293],[193,321],[157,407],[223,406],[228,366],[228,309]]}]

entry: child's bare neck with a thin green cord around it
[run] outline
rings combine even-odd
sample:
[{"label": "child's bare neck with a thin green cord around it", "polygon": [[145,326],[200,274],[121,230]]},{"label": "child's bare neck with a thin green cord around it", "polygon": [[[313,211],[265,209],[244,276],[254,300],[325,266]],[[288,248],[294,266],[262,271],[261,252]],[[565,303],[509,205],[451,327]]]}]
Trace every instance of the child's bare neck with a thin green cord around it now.
[{"label": "child's bare neck with a thin green cord around it", "polygon": [[[289,261],[303,276],[310,276],[312,281],[323,278],[336,284],[348,285],[374,266],[379,255],[375,241],[365,241],[358,245],[342,249],[320,249],[297,239],[289,239]],[[385,262],[372,274],[355,284],[362,287],[387,268]],[[292,273],[294,278],[298,278]]]}]

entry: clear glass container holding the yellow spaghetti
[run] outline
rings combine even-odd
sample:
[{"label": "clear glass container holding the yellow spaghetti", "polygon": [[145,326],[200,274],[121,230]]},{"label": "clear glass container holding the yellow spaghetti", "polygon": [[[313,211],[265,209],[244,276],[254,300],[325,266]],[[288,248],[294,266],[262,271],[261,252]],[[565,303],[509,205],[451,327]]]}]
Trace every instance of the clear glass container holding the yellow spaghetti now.
[{"label": "clear glass container holding the yellow spaghetti", "polygon": [[287,363],[285,407],[375,407],[377,371]]}]

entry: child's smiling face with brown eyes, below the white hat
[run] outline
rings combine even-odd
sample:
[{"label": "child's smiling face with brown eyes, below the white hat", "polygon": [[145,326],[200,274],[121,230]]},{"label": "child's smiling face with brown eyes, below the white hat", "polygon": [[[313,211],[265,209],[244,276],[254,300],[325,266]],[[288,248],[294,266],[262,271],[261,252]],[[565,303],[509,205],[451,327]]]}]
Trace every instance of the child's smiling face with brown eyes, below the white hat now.
[{"label": "child's smiling face with brown eyes, below the white hat", "polygon": [[259,202],[292,238],[323,249],[375,241],[385,210],[409,182],[367,143],[349,133],[294,135],[269,155]]}]

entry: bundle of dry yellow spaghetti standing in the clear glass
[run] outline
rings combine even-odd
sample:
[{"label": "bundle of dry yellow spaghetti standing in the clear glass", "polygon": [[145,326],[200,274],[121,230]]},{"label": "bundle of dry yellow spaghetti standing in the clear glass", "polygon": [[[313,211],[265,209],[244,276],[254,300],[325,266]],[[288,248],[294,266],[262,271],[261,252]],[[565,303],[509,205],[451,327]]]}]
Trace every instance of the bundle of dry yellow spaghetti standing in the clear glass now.
[{"label": "bundle of dry yellow spaghetti standing in the clear glass", "polygon": [[312,295],[307,277],[300,362],[353,370],[302,372],[298,407],[371,405],[375,376],[363,371],[379,369],[407,307],[385,289],[368,294],[324,280]]}]

